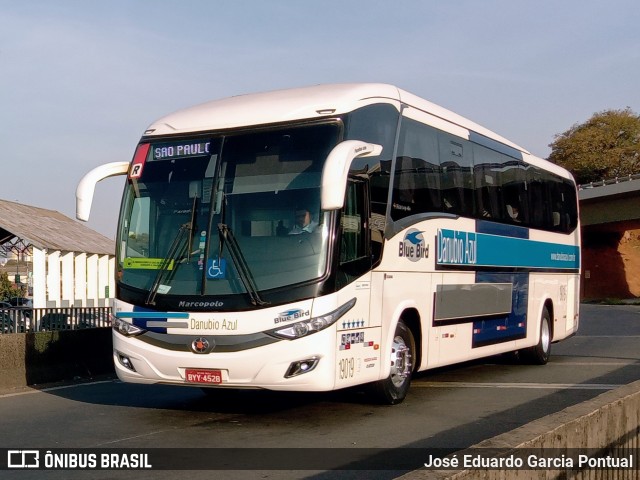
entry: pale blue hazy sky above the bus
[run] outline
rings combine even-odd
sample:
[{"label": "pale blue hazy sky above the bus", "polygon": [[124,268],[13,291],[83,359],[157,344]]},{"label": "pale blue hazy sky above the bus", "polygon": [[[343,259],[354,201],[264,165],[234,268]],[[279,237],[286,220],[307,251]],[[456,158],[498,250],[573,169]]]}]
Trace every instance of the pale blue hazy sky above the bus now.
[{"label": "pale blue hazy sky above the bus", "polygon": [[[0,199],[75,218],[82,176],[172,111],[322,83],[394,84],[546,158],[640,112],[637,0],[0,0]],[[124,177],[87,226],[115,238]]]}]

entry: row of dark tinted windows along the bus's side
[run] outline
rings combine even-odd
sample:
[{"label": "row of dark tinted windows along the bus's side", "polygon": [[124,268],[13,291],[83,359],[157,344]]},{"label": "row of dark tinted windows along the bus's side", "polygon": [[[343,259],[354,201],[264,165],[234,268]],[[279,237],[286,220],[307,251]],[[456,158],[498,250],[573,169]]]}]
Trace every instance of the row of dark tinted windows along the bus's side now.
[{"label": "row of dark tinted windows along the bus's side", "polygon": [[387,104],[345,117],[345,139],[383,146],[379,157],[356,159],[352,173],[370,182],[373,238],[385,228],[391,170],[391,218],[446,212],[542,230],[571,232],[578,223],[575,185],[484,143],[403,117],[392,161],[399,114]]}]

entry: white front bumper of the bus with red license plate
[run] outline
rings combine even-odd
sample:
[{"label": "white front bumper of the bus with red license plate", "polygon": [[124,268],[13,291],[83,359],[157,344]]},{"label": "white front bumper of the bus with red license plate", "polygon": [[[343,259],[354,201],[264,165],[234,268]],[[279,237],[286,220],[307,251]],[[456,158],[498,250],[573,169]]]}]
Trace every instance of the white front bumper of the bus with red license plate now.
[{"label": "white front bumper of the bus with red license plate", "polygon": [[197,354],[159,348],[114,332],[113,357],[123,382],[327,391],[335,388],[335,339],[335,328],[330,327],[247,350]]}]

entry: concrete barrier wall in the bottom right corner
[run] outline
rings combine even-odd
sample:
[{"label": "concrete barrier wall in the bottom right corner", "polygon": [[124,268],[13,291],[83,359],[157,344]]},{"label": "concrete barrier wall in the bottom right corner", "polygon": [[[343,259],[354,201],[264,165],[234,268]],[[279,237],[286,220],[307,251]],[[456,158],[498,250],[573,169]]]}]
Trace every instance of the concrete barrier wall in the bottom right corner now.
[{"label": "concrete barrier wall in the bottom right corner", "polygon": [[[625,449],[640,453],[640,381],[603,393],[502,435],[471,449]],[[458,457],[463,455],[460,452]],[[638,458],[634,463],[638,465]],[[516,479],[639,479],[640,471],[589,469],[563,470],[416,470],[402,480],[516,480]]]}]

